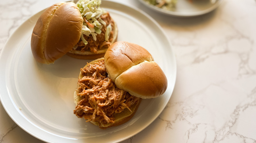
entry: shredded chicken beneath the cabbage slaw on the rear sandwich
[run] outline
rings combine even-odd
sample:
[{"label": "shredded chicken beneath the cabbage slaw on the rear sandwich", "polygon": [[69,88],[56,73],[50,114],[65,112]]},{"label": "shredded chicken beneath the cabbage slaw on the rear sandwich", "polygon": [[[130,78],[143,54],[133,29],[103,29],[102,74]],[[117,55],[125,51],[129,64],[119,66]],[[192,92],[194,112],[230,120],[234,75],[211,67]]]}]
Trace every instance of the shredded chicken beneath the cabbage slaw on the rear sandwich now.
[{"label": "shredded chicken beneath the cabbage slaw on the rear sandwich", "polygon": [[112,29],[114,29],[114,21],[111,19],[108,12],[102,14],[100,18],[106,23],[106,25],[102,24],[103,27],[101,28],[101,33],[97,34],[96,36],[97,40],[95,41],[91,35],[84,35],[84,39],[88,42],[88,44],[85,45],[84,42],[80,39],[76,44],[77,48],[73,50],[91,51],[96,53],[98,49],[108,48],[110,46],[111,41],[113,40],[113,31],[110,33],[109,41],[105,41],[105,33],[109,24],[111,24]]}]

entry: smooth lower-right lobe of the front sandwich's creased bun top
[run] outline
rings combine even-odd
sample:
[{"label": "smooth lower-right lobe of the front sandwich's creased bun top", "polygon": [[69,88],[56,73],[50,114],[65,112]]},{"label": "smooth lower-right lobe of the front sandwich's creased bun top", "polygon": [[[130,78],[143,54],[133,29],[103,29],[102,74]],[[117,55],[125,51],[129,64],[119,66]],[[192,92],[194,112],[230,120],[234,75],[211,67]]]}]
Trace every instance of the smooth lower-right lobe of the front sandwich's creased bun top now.
[{"label": "smooth lower-right lobe of the front sandwich's creased bun top", "polygon": [[121,73],[115,81],[118,88],[140,98],[155,98],[167,88],[165,74],[154,61],[144,61]]}]

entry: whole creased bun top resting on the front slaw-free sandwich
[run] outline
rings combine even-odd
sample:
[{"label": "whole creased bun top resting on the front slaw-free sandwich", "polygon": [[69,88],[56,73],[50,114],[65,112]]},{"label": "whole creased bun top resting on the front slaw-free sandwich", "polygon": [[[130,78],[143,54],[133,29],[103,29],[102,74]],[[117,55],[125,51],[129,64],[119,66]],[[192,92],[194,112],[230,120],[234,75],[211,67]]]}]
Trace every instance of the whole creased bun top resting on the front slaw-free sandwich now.
[{"label": "whole creased bun top resting on the front slaw-free sandwich", "polygon": [[155,98],[167,89],[167,78],[151,54],[143,47],[119,41],[104,57],[105,67],[118,88],[140,98]]}]

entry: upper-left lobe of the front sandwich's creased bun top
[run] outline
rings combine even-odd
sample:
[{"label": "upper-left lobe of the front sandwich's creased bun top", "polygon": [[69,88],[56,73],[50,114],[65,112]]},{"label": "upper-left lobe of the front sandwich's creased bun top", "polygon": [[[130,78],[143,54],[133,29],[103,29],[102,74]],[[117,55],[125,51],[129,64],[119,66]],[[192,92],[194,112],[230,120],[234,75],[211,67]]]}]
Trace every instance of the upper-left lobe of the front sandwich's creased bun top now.
[{"label": "upper-left lobe of the front sandwich's creased bun top", "polygon": [[117,76],[143,61],[153,61],[151,54],[141,46],[125,41],[112,44],[105,56],[109,77],[115,82]]}]

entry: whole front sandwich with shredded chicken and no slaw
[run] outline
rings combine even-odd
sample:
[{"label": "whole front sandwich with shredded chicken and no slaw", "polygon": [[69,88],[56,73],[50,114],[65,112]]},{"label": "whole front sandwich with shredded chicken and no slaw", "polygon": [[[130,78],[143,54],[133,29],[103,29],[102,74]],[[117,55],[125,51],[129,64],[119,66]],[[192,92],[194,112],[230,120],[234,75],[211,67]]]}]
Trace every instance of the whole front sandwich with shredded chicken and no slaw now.
[{"label": "whole front sandwich with shredded chicken and no slaw", "polygon": [[150,53],[125,41],[112,44],[104,58],[80,69],[74,114],[101,129],[127,122],[141,99],[156,98],[167,88],[167,79]]}]

